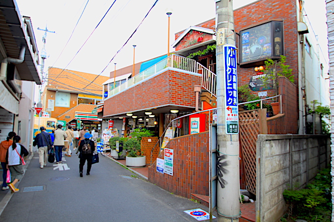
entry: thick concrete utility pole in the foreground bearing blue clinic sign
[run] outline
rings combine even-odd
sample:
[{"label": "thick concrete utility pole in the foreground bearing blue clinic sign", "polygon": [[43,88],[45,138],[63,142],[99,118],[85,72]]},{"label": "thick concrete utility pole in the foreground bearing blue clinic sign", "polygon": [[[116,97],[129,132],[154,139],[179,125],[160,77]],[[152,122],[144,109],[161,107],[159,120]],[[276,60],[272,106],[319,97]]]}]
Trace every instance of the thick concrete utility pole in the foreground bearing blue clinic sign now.
[{"label": "thick concrete utility pole in the foreground bearing blue clinic sign", "polygon": [[240,217],[237,50],[233,0],[216,0],[217,213],[219,222]]}]

